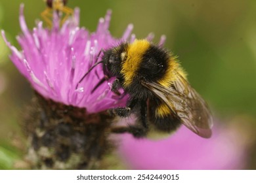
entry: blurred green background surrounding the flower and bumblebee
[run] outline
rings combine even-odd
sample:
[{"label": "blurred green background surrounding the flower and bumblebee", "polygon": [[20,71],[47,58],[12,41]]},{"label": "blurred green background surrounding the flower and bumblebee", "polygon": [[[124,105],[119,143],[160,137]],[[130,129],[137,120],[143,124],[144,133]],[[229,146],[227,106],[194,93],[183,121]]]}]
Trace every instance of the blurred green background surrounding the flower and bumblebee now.
[{"label": "blurred green background surrounding the flower and bumblebee", "polygon": [[[14,46],[20,33],[18,12],[25,4],[28,27],[45,9],[43,0],[0,1],[0,28]],[[167,36],[165,47],[179,56],[190,83],[205,98],[216,118],[236,123],[248,131],[256,125],[256,1],[232,0],[70,0],[81,9],[81,26],[95,31],[98,18],[112,9],[110,31],[121,37],[129,23],[144,38],[155,33],[154,42]],[[0,38],[0,169],[26,167],[20,161],[26,151],[22,108],[32,96],[30,84],[8,58],[9,49]],[[248,133],[247,169],[256,169],[255,135]]]}]

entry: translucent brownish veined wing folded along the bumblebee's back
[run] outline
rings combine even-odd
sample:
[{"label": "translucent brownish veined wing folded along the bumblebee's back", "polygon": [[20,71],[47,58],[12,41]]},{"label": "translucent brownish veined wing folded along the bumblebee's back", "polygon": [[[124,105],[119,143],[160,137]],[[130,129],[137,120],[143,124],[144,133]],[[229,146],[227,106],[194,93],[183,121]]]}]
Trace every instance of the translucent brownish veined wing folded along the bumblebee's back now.
[{"label": "translucent brownish veined wing folded along the bumblebee's back", "polygon": [[169,88],[145,81],[142,84],[166,103],[188,129],[201,137],[211,137],[211,112],[202,97],[181,75]]}]

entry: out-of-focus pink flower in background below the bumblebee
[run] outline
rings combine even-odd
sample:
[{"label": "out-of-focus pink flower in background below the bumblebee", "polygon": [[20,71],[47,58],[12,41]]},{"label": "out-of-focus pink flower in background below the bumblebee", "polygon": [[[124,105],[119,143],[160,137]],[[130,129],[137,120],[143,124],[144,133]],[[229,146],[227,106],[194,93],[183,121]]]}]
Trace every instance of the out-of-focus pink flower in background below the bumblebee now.
[{"label": "out-of-focus pink flower in background below the bumblebee", "polygon": [[213,128],[211,139],[181,127],[168,139],[123,135],[120,154],[131,169],[243,169],[245,144],[234,129]]}]

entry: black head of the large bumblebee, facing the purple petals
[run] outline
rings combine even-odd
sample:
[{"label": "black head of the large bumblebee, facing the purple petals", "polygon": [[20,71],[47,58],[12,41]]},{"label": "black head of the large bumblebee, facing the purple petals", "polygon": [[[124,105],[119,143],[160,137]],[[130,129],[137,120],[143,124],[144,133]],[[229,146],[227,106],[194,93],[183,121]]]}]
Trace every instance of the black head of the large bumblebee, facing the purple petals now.
[{"label": "black head of the large bumblebee, facing the purple petals", "polygon": [[119,77],[121,75],[121,64],[125,59],[125,47],[127,44],[110,48],[106,50],[102,56],[103,71],[106,76]]}]

